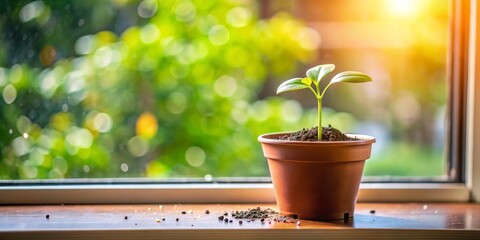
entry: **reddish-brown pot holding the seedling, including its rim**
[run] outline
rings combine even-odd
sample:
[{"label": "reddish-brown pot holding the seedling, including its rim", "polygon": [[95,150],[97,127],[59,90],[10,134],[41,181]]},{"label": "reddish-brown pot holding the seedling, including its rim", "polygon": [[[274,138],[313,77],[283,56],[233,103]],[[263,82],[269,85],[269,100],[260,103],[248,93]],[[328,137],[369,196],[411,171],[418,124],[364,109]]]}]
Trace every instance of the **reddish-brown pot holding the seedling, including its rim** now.
[{"label": "reddish-brown pot holding the seedling, including its rim", "polygon": [[277,140],[286,133],[258,137],[268,160],[280,213],[301,219],[353,217],[365,160],[375,139],[300,142]]}]

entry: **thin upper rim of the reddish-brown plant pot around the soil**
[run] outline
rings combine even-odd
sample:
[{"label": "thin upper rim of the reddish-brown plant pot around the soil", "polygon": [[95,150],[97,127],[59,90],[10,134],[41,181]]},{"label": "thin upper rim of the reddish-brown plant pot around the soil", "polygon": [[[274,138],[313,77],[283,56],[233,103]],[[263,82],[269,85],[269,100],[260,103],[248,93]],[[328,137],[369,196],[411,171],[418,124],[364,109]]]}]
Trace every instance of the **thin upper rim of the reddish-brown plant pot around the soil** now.
[{"label": "thin upper rim of the reddish-brown plant pot around the soil", "polygon": [[375,142],[375,138],[369,135],[364,134],[352,134],[347,133],[349,137],[356,137],[360,140],[351,140],[351,141],[289,141],[289,140],[279,140],[276,139],[278,136],[290,134],[293,132],[275,132],[275,133],[266,133],[258,136],[258,141],[261,143],[277,144],[277,145],[327,145],[327,146],[338,146],[338,145],[364,145],[372,144]]}]

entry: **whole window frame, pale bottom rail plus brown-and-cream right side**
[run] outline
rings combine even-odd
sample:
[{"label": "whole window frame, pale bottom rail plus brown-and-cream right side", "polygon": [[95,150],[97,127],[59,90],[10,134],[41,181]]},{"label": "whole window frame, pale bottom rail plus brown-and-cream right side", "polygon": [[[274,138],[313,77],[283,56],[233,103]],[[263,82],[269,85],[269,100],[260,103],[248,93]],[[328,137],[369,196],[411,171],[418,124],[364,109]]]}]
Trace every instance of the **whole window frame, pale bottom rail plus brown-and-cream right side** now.
[{"label": "whole window frame, pale bottom rail plus brown-and-cream right side", "polygon": [[[452,0],[451,92],[447,132],[453,182],[362,183],[359,202],[480,202],[480,12],[477,0]],[[476,71],[478,69],[478,72]],[[457,169],[452,171],[452,169]],[[20,184],[19,184],[20,183]],[[275,202],[271,183],[133,181],[0,181],[0,204],[263,203]],[[194,197],[192,197],[194,196]]]}]

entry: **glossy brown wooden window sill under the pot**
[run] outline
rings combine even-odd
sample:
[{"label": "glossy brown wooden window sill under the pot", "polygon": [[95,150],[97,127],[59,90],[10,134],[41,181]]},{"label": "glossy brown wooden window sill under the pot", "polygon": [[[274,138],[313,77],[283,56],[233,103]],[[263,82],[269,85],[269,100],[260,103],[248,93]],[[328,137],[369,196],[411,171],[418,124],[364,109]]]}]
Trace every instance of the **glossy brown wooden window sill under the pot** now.
[{"label": "glossy brown wooden window sill under the pot", "polygon": [[359,203],[346,222],[299,220],[298,226],[218,219],[257,206],[276,210],[272,204],[0,206],[0,239],[480,238],[480,204],[469,203]]}]

